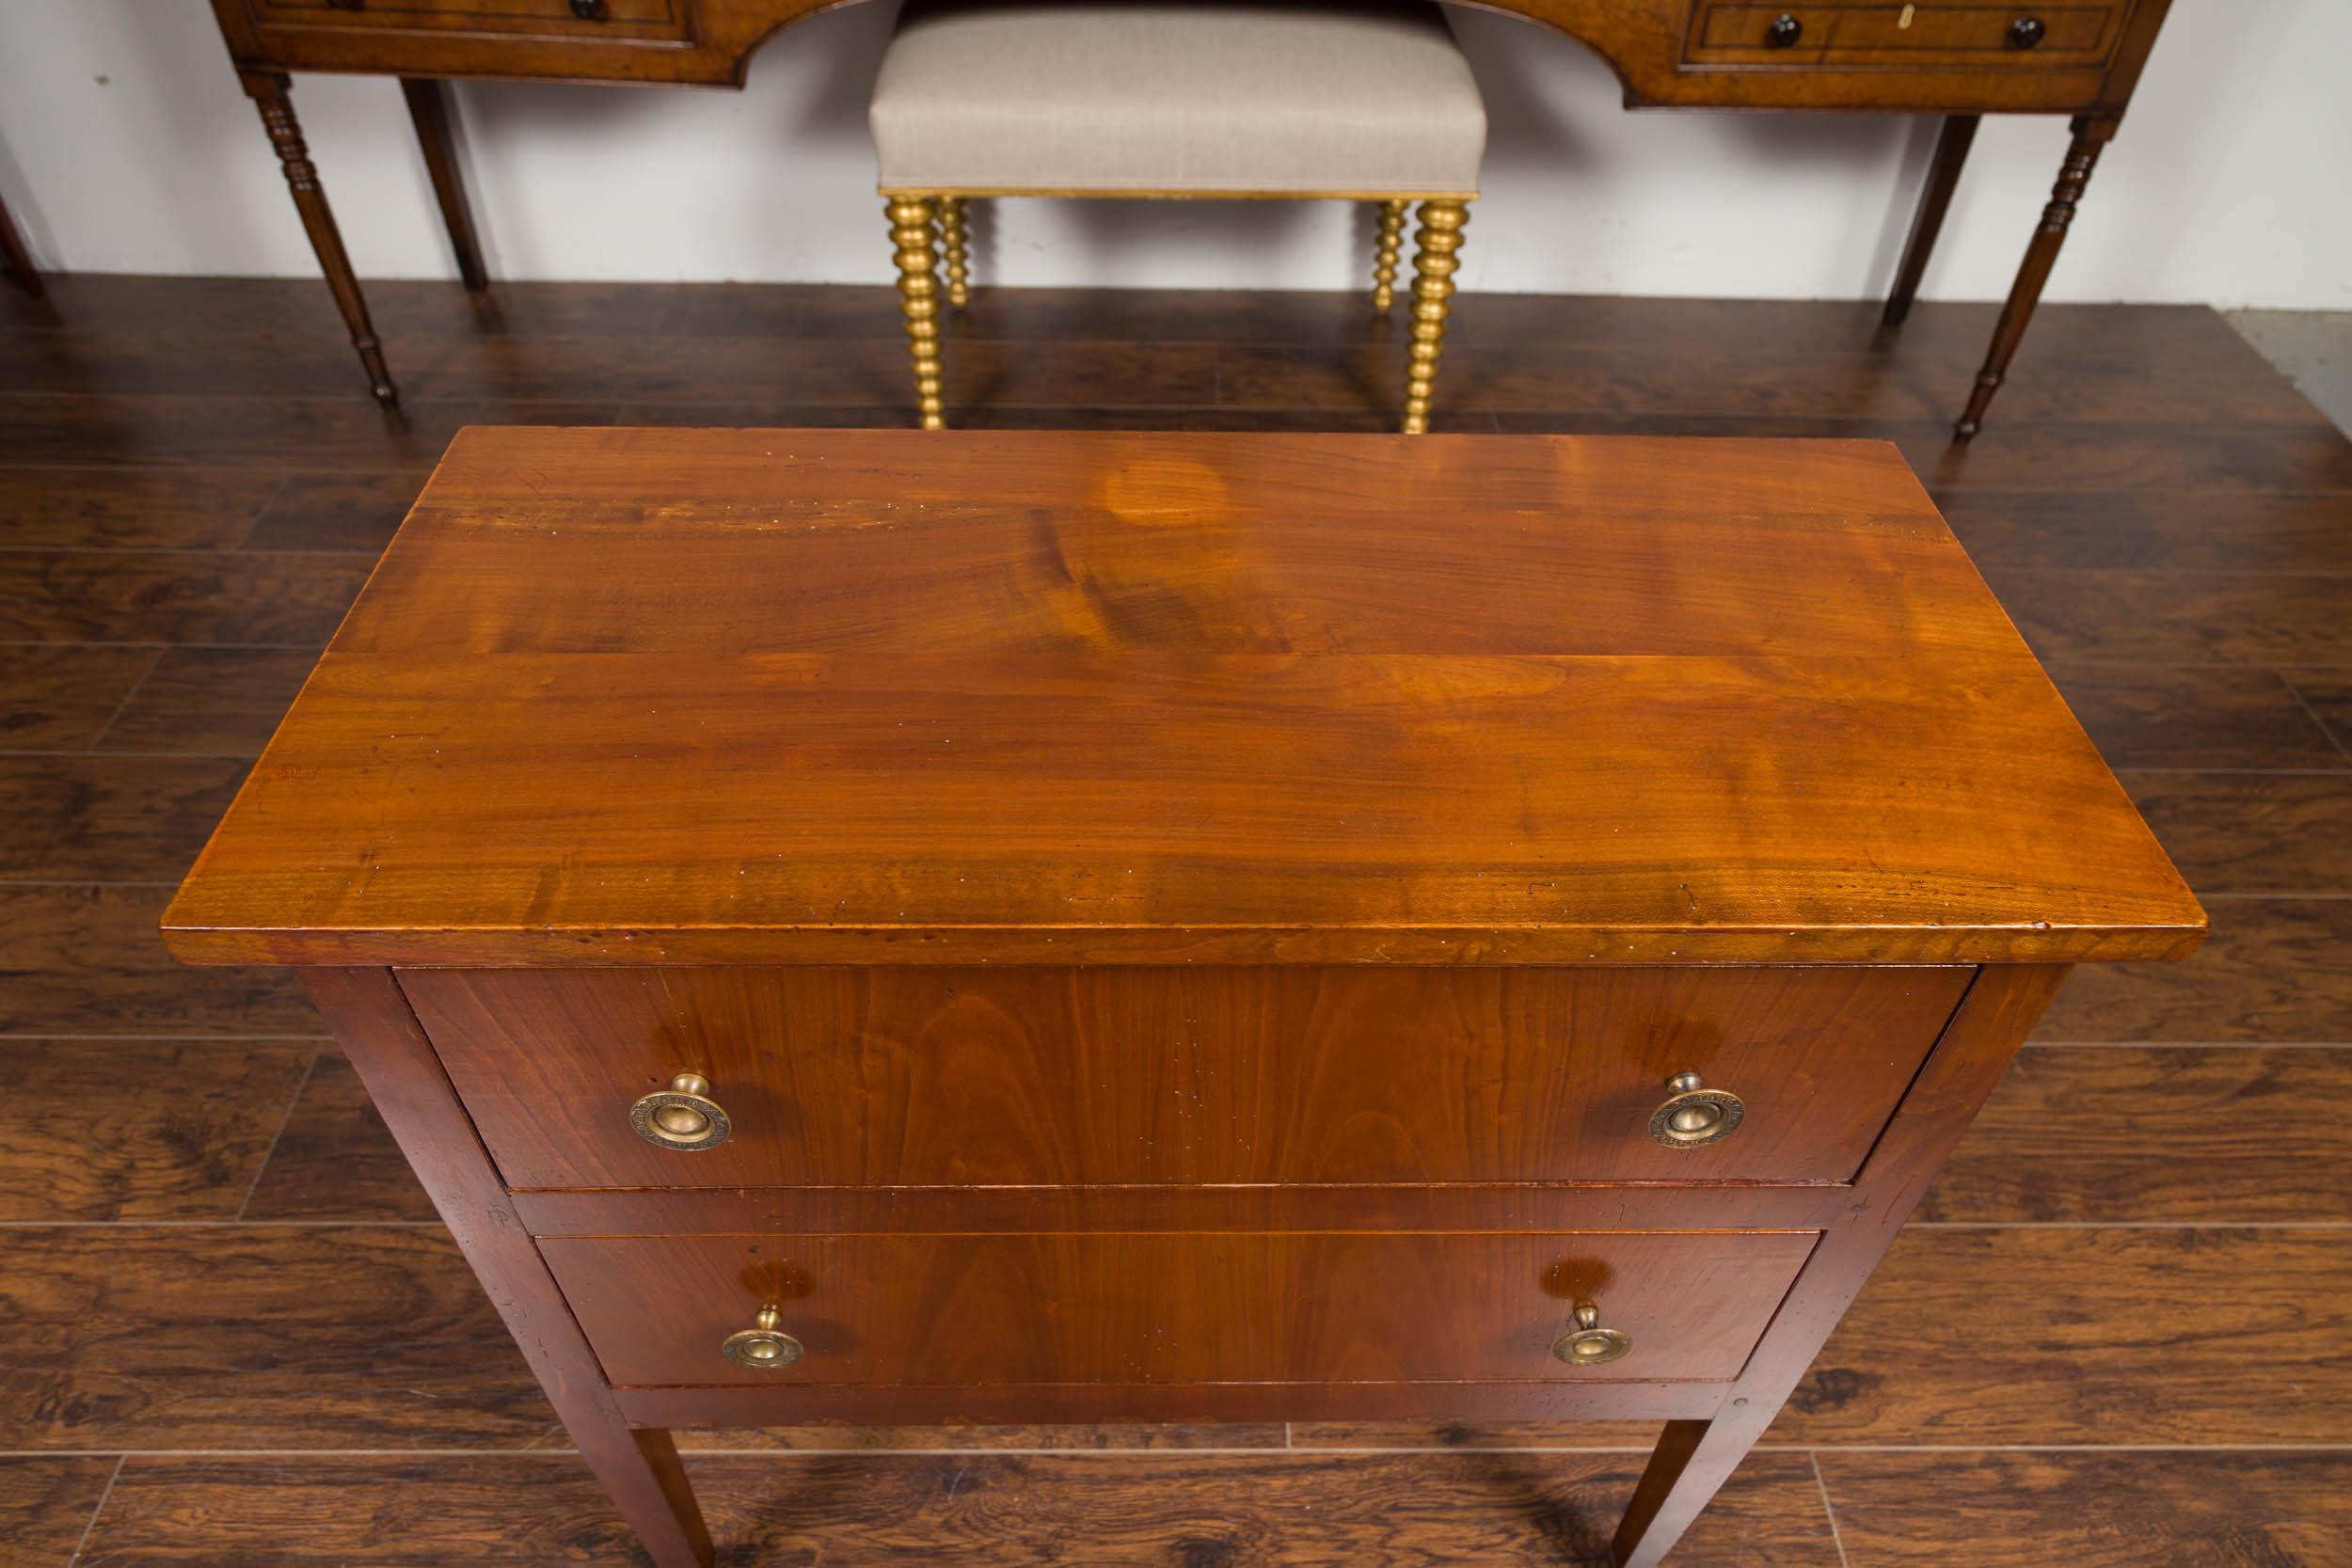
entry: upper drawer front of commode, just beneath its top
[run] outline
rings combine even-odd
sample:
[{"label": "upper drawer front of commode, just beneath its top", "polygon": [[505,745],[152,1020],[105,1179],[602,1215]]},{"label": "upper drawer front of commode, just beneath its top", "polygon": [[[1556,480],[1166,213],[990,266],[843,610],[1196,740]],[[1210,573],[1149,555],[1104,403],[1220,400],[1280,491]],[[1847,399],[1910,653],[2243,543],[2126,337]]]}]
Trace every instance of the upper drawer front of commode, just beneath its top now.
[{"label": "upper drawer front of commode, just beneath its top", "polygon": [[[400,983],[517,1190],[1839,1182],[1971,973],[877,966]],[[677,1074],[708,1081],[722,1143],[675,1147],[633,1124]],[[1740,1100],[1726,1135],[1653,1135],[1679,1074]]]}]

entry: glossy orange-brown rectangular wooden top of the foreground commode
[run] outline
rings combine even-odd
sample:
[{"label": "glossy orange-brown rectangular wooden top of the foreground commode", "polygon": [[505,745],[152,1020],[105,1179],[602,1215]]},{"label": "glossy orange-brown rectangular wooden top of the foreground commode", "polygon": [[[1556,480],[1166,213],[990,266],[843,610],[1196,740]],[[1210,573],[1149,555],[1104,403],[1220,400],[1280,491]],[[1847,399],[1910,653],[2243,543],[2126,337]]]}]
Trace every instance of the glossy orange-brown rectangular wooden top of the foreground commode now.
[{"label": "glossy orange-brown rectangular wooden top of the foreground commode", "polygon": [[191,961],[2074,961],[2204,914],[1879,442],[466,430]]}]

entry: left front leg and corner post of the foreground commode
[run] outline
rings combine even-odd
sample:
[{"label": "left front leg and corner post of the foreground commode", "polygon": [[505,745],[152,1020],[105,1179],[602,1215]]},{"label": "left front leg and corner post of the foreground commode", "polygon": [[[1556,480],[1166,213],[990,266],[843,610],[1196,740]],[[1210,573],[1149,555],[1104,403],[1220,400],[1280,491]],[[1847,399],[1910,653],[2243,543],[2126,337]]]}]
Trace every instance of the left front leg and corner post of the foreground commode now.
[{"label": "left front leg and corner post of the foreground commode", "polygon": [[489,1150],[388,969],[306,969],[310,1001],[343,1041],[416,1180],[506,1319],[595,1479],[659,1568],[710,1568],[710,1530],[668,1432],[621,1415],[539,1244],[515,1218]]}]

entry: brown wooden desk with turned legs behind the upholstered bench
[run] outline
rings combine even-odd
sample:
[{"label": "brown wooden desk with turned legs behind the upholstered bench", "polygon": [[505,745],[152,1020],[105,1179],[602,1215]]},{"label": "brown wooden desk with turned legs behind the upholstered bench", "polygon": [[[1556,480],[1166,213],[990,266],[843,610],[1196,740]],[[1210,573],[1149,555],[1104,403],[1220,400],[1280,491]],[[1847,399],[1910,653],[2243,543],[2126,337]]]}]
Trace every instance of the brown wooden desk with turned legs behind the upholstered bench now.
[{"label": "brown wooden desk with turned legs behind the upholstered bench", "polygon": [[[289,71],[397,75],[468,289],[487,289],[466,186],[452,155],[445,78],[546,78],[741,87],[776,31],[840,0],[212,0],[245,92],[285,165],[369,386],[395,402],[390,367],[301,139]],[[1628,108],[1818,108],[1945,115],[1886,322],[1910,310],[1983,115],[2072,115],[1985,367],[1955,425],[1976,435],[2009,371],[2074,205],[2114,136],[2171,0],[1486,0],[1581,40],[1616,71]],[[1402,106],[1409,92],[1399,96]]]}]

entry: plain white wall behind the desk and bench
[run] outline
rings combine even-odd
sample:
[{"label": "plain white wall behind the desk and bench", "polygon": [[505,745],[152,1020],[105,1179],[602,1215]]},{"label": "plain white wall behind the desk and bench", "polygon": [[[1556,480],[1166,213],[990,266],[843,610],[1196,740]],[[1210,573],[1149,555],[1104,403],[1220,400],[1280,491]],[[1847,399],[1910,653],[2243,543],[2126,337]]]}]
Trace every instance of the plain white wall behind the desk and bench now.
[{"label": "plain white wall behind the desk and bench", "polygon": [[[748,92],[463,85],[466,165],[501,277],[882,282],[866,92],[887,0],[776,38]],[[1571,40],[1458,12],[1494,118],[1463,284],[1865,296],[1884,289],[1933,127],[1628,115]],[[2352,2],[2176,0],[2051,299],[2352,306]],[[388,78],[294,85],[362,275],[452,275]],[[1406,99],[1399,96],[1399,110]],[[2065,127],[1987,120],[1926,294],[1997,299]],[[0,195],[59,268],[310,275],[205,0],[0,0]],[[1002,282],[1345,287],[1336,205],[1000,202]]]}]

